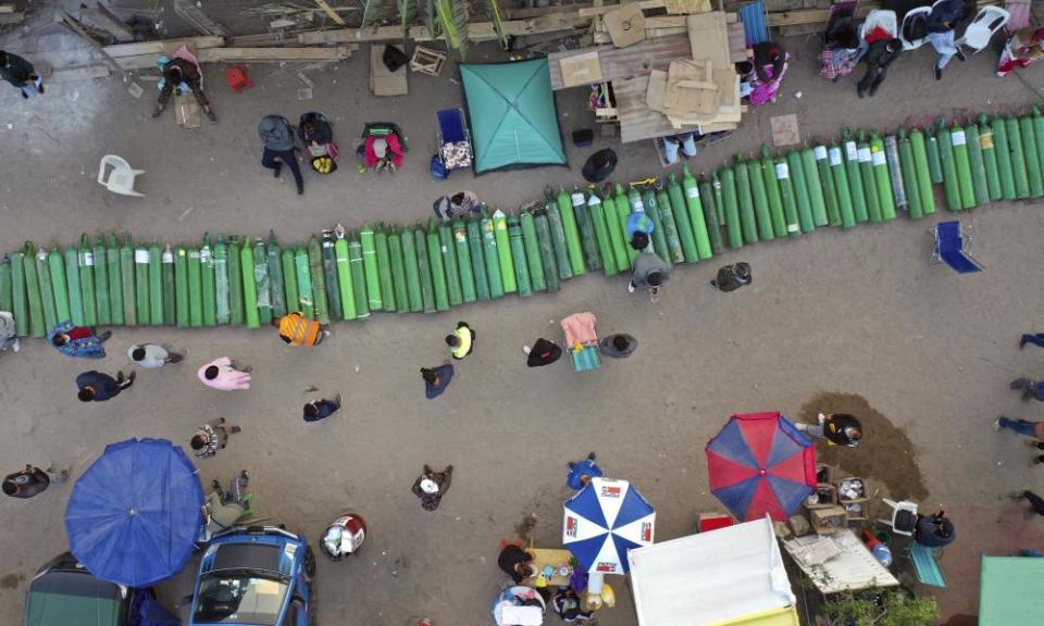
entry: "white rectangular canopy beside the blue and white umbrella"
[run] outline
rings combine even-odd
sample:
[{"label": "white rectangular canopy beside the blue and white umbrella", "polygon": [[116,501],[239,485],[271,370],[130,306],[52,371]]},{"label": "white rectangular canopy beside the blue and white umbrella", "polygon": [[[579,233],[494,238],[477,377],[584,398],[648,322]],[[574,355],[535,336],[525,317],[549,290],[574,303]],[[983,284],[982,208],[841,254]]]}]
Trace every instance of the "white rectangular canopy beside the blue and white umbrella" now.
[{"label": "white rectangular canopy beside the blue and white umbrella", "polygon": [[627,552],[641,626],[704,626],[793,606],[766,517]]}]

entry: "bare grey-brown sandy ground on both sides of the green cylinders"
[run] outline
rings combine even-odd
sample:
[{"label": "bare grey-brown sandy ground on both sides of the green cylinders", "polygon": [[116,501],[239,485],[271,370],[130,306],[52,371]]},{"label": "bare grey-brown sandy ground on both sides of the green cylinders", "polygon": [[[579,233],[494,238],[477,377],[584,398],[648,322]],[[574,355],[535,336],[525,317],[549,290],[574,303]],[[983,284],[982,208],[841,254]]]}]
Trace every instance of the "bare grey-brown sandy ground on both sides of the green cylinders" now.
[{"label": "bare grey-brown sandy ground on both sides of the green cylinders", "polygon": [[[60,52],[62,43],[40,38],[23,46]],[[816,76],[815,39],[792,39],[786,47],[794,59],[781,101],[753,111],[732,139],[694,160],[696,170],[769,141],[772,115],[796,113],[803,138],[832,137],[845,124],[891,128],[955,111],[1021,108],[1044,84],[1036,67],[1028,76],[1032,87],[996,79],[990,53],[955,61],[935,83],[933,53],[922,50],[896,63],[877,98],[859,100],[854,80],[831,85]],[[583,159],[601,147],[570,147],[573,170],[474,179],[457,173],[435,181],[427,174],[434,111],[461,103],[452,72],[438,79],[411,76],[409,97],[375,100],[366,89],[364,52],[310,72],[315,99],[309,102],[297,101],[295,67],[250,67],[258,87],[243,95],[232,93],[219,68],[209,67],[220,122],[195,132],[176,128],[172,112],[150,118],[151,84],[144,84],[140,100],[117,79],[51,85],[30,103],[3,89],[0,249],[25,239],[65,243],[99,228],[161,241],[274,228],[282,241],[298,241],[337,222],[426,221],[436,196],[460,188],[513,208],[537,199],[546,185],[577,183]],[[558,95],[567,136],[593,125],[584,98],[583,90]],[[290,180],[279,184],[258,165],[254,127],[265,113],[296,117],[308,109],[335,120],[343,147],[363,122],[398,122],[412,147],[406,167],[394,178],[351,167],[330,179],[309,176],[298,198]],[[95,183],[105,153],[147,171],[139,183],[146,198],[117,197]],[[651,145],[626,146],[616,179],[649,174],[661,174]],[[729,415],[798,415],[821,392],[856,393],[916,447],[928,489],[922,506],[944,506],[956,521],[960,538],[943,560],[949,587],[935,594],[946,614],[974,613],[980,555],[1040,548],[1042,538],[1044,523],[1023,519],[1004,496],[1037,485],[1040,470],[1027,465],[1031,453],[1015,436],[990,429],[998,413],[1036,418],[1041,412],[1008,390],[1012,378],[1042,370],[1041,353],[1017,349],[1019,333],[1041,329],[1033,327],[1044,292],[1044,278],[1033,270],[1044,230],[1037,211],[1034,202],[959,215],[973,228],[974,253],[987,267],[975,276],[929,266],[929,228],[950,217],[943,213],[917,224],[900,218],[817,231],[683,267],[657,305],[629,297],[624,278],[598,275],[573,279],[555,296],[338,324],[311,351],[288,349],[271,331],[121,328],[109,358],[85,363],[26,341],[20,354],[0,358],[0,458],[4,472],[59,461],[79,473],[108,442],[138,436],[187,443],[197,425],[225,416],[243,434],[199,464],[204,483],[248,468],[258,513],[312,538],[345,510],[370,524],[372,536],[358,559],[321,560],[320,623],[402,626],[423,614],[436,624],[477,625],[488,622],[489,602],[505,584],[496,567],[499,540],[534,514],[537,544],[558,544],[567,461],[596,450],[610,476],[632,480],[657,506],[657,539],[679,537],[692,531],[698,512],[719,508],[708,492],[701,449]],[[754,266],[753,286],[713,291],[707,281],[718,265],[737,260]],[[564,362],[526,370],[522,346],[540,335],[559,338],[558,321],[575,311],[595,312],[602,334],[634,335],[637,352],[586,375]],[[426,401],[418,368],[446,358],[442,338],[458,320],[478,331],[475,353],[445,396]],[[94,366],[126,370],[123,352],[141,341],[165,342],[186,352],[186,362],[140,372],[134,388],[111,402],[75,399],[76,374]],[[253,366],[251,390],[220,393],[199,385],[196,367],[224,354]],[[300,405],[313,396],[306,392],[311,386],[316,395],[344,395],[345,411],[303,424]],[[845,453],[853,462],[871,453],[906,459],[887,442]],[[452,490],[435,513],[422,511],[409,491],[423,463],[456,466]],[[0,536],[0,623],[18,622],[26,578],[66,549],[69,488],[0,501],[7,527]],[[186,571],[165,594],[187,592],[191,577]],[[625,583],[611,585],[620,604],[602,612],[602,624],[635,624]]]}]

